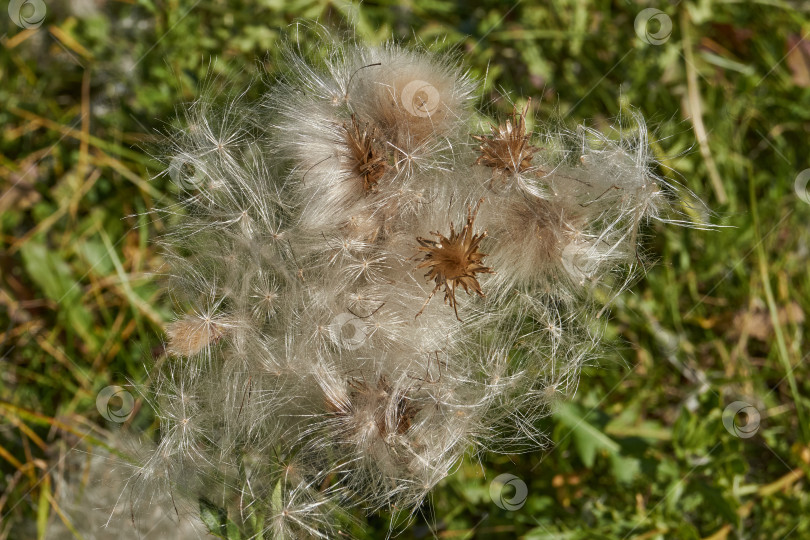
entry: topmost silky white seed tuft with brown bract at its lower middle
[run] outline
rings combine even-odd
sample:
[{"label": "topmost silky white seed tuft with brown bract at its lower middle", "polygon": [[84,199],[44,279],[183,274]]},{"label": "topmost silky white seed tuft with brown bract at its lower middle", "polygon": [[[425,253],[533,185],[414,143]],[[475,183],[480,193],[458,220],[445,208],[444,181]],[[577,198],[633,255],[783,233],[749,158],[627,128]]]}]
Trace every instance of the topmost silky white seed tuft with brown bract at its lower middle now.
[{"label": "topmost silky white seed tuft with brown bract at its lower middle", "polygon": [[[476,86],[451,56],[396,45],[337,50],[321,71],[292,55],[263,103],[269,137],[281,159],[293,158],[288,182],[306,229],[374,239],[423,202],[415,175],[430,186],[453,169]],[[302,92],[302,83],[331,91]]]}]

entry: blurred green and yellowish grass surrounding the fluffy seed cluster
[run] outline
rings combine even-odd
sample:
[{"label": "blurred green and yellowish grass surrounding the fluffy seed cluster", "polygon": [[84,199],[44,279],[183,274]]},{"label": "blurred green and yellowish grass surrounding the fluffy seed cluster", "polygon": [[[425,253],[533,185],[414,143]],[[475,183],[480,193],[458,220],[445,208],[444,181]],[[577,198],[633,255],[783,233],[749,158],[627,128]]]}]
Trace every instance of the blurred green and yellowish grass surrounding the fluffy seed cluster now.
[{"label": "blurred green and yellowish grass surrounding the fluffy seed cluster", "polygon": [[[662,172],[729,226],[651,230],[659,264],[615,304],[604,359],[546,422],[553,445],[465,462],[404,537],[810,537],[810,204],[794,189],[810,167],[806,4],[49,1],[36,30],[2,4],[0,539],[63,519],[69,449],[155,429],[148,411],[118,426],[95,407],[164,354],[167,299],[148,275],[164,223],[126,216],[177,190],[148,180],[147,150],[207,75],[239,88],[272,73],[298,18],[370,43],[446,40],[486,74],[493,112],[533,97],[539,118],[603,126],[632,105]],[[647,7],[672,23],[661,44],[634,29]],[[723,426],[737,400],[760,413],[753,437]],[[527,484],[522,508],[493,504],[501,473]],[[368,538],[387,525],[367,523]]]}]

